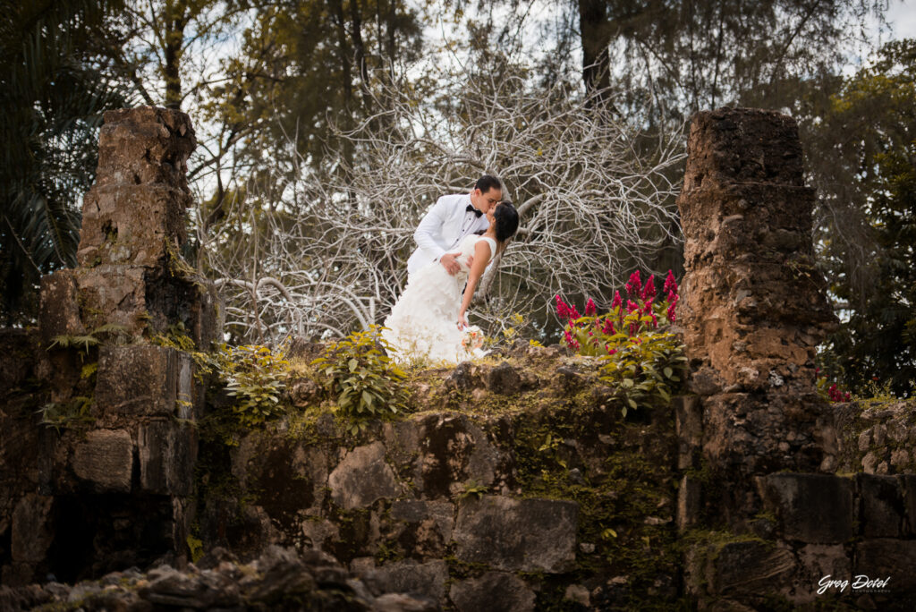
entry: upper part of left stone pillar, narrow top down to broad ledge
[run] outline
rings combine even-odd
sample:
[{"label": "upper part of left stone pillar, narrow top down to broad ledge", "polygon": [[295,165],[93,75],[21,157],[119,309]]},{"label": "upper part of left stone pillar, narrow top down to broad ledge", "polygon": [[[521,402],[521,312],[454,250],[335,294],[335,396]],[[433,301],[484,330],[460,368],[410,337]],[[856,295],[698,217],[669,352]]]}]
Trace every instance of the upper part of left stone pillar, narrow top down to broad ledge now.
[{"label": "upper part of left stone pillar, narrow top down to broad ledge", "polygon": [[180,322],[196,344],[210,344],[213,290],[180,256],[191,203],[185,174],[195,146],[184,113],[105,113],[96,179],[82,206],[80,266],[42,279],[46,340],[105,323],[144,336]]}]

